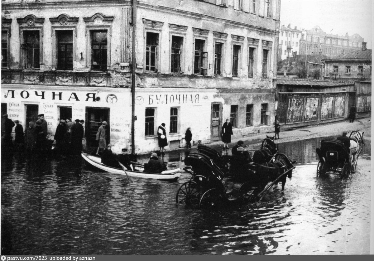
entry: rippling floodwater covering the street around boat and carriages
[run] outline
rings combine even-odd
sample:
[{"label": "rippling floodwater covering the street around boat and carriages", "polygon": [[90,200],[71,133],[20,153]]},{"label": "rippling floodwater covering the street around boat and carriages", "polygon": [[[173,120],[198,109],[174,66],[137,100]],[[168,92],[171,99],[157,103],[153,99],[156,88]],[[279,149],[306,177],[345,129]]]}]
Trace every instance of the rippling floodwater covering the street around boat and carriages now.
[{"label": "rippling floodwater covering the street around boat and carriages", "polygon": [[[80,159],[3,154],[1,254],[370,254],[370,142],[355,174],[317,179],[319,142],[279,145],[298,162],[284,191],[215,211],[175,204],[185,172],[177,182],[128,179]],[[164,160],[171,168],[184,157]]]}]

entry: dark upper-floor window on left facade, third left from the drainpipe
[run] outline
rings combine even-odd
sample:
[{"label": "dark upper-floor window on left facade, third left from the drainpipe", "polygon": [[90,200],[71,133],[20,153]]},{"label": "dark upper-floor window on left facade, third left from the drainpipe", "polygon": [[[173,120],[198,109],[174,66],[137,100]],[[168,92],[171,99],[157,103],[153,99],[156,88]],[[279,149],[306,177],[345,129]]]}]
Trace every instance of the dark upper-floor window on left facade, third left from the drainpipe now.
[{"label": "dark upper-floor window on left facade, third left from the drainpipe", "polygon": [[22,44],[27,69],[35,69],[40,67],[40,42],[39,31],[23,31],[24,43]]}]

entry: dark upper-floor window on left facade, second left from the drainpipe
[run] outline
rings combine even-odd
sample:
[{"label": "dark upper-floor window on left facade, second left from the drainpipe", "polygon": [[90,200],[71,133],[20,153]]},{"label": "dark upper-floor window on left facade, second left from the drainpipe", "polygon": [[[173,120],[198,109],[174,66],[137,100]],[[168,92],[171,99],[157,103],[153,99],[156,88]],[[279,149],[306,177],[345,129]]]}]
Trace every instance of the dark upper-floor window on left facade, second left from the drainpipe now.
[{"label": "dark upper-floor window on left facade, second left from the drainpipe", "polygon": [[73,70],[73,31],[57,31],[57,69]]}]

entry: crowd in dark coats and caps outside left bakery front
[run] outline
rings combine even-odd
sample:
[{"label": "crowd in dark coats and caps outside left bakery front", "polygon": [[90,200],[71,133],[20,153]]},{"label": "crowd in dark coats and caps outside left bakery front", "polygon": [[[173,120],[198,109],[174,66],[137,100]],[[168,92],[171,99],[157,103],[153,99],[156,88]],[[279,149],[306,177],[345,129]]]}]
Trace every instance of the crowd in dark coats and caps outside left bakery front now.
[{"label": "crowd in dark coats and caps outside left bakery front", "polygon": [[[14,122],[8,118],[7,114],[2,117],[3,137],[2,148],[24,148],[27,152],[48,152],[55,149],[58,153],[68,155],[80,155],[84,137],[84,120],[76,119],[75,122],[71,118],[61,119],[54,135],[55,144],[48,139],[47,132],[48,123],[44,119],[44,114],[38,115],[38,120],[28,122],[24,129],[19,120]],[[14,141],[12,141],[12,130],[14,127]]]}]

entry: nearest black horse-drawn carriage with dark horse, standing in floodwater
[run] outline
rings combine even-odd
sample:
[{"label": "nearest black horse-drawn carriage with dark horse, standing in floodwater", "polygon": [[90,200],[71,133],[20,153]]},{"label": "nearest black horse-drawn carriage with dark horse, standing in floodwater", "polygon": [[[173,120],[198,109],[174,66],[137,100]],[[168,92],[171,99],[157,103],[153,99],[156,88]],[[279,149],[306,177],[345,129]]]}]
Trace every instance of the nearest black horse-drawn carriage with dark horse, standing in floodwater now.
[{"label": "nearest black horse-drawn carriage with dark horse, standing in floodwater", "polygon": [[255,199],[280,180],[284,189],[286,174],[290,178],[295,168],[294,162],[285,154],[275,153],[269,162],[252,162],[242,171],[233,171],[227,159],[212,148],[201,145],[198,151],[185,159],[184,170],[191,174],[191,178],[180,186],[176,197],[177,203],[196,208]]}]

